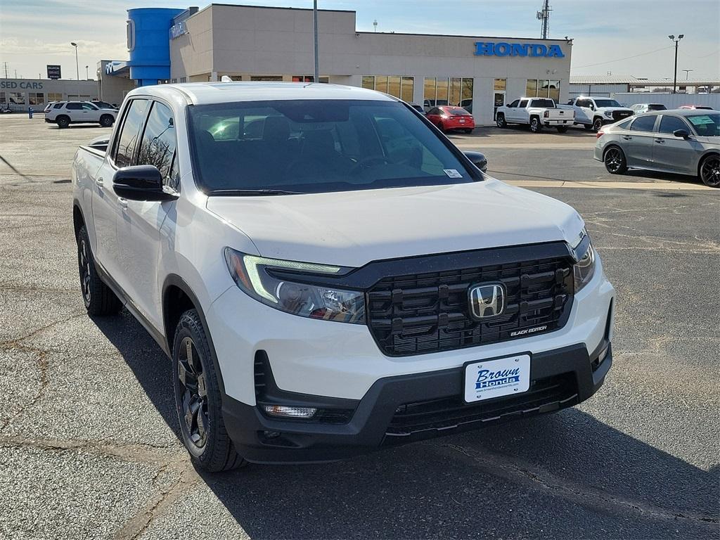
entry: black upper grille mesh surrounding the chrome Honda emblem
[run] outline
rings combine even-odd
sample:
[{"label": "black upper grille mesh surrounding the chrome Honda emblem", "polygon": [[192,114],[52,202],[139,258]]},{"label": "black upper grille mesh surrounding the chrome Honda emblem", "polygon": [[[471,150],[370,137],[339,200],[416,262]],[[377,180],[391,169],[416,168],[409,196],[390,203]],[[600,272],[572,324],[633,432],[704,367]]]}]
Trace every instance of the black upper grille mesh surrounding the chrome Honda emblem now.
[{"label": "black upper grille mesh surrounding the chrome Honda emblem", "polygon": [[[470,315],[469,288],[490,282],[505,285],[505,311],[481,322]],[[567,258],[393,276],[369,289],[368,324],[388,356],[451,351],[562,328],[572,294]]]}]

